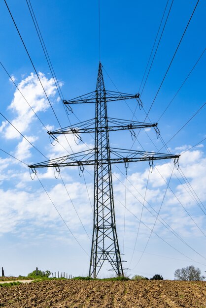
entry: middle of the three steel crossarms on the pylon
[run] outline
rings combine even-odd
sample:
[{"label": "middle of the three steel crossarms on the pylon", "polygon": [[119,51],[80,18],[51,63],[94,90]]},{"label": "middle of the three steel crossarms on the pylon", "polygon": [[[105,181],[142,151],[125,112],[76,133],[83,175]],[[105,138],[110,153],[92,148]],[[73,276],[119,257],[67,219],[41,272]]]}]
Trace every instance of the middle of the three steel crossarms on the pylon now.
[{"label": "middle of the three steel crossarms on the pylon", "polygon": [[[99,126],[98,130],[102,132],[106,131],[116,131],[116,130],[133,130],[137,128],[146,128],[146,127],[157,127],[157,123],[143,123],[137,121],[123,120],[108,118],[108,126]],[[84,121],[81,123],[76,123],[62,129],[57,129],[54,131],[48,131],[49,135],[60,135],[60,134],[80,134],[80,133],[95,133],[95,119]]]}]

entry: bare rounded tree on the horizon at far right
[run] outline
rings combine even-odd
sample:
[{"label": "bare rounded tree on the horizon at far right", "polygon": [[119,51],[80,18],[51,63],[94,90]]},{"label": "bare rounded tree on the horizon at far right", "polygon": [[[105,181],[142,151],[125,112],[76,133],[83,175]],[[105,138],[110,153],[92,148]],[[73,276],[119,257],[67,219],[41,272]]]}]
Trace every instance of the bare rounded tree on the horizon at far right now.
[{"label": "bare rounded tree on the horizon at far right", "polygon": [[201,270],[193,265],[183,267],[182,269],[177,269],[174,272],[174,277],[176,280],[203,280],[204,276],[201,276]]}]

